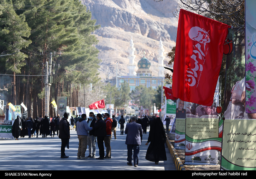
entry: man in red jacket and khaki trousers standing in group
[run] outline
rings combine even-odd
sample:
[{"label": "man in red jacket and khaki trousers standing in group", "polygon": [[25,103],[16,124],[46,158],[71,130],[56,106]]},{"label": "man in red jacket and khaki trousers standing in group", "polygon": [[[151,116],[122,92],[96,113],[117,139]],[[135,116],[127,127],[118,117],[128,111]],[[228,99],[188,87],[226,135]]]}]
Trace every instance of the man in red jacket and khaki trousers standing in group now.
[{"label": "man in red jacket and khaki trousers standing in group", "polygon": [[106,122],[106,137],[104,137],[104,143],[106,147],[106,156],[105,159],[111,159],[111,146],[110,146],[110,138],[111,138],[111,128],[113,120],[109,117],[108,113],[104,114],[104,120]]}]

